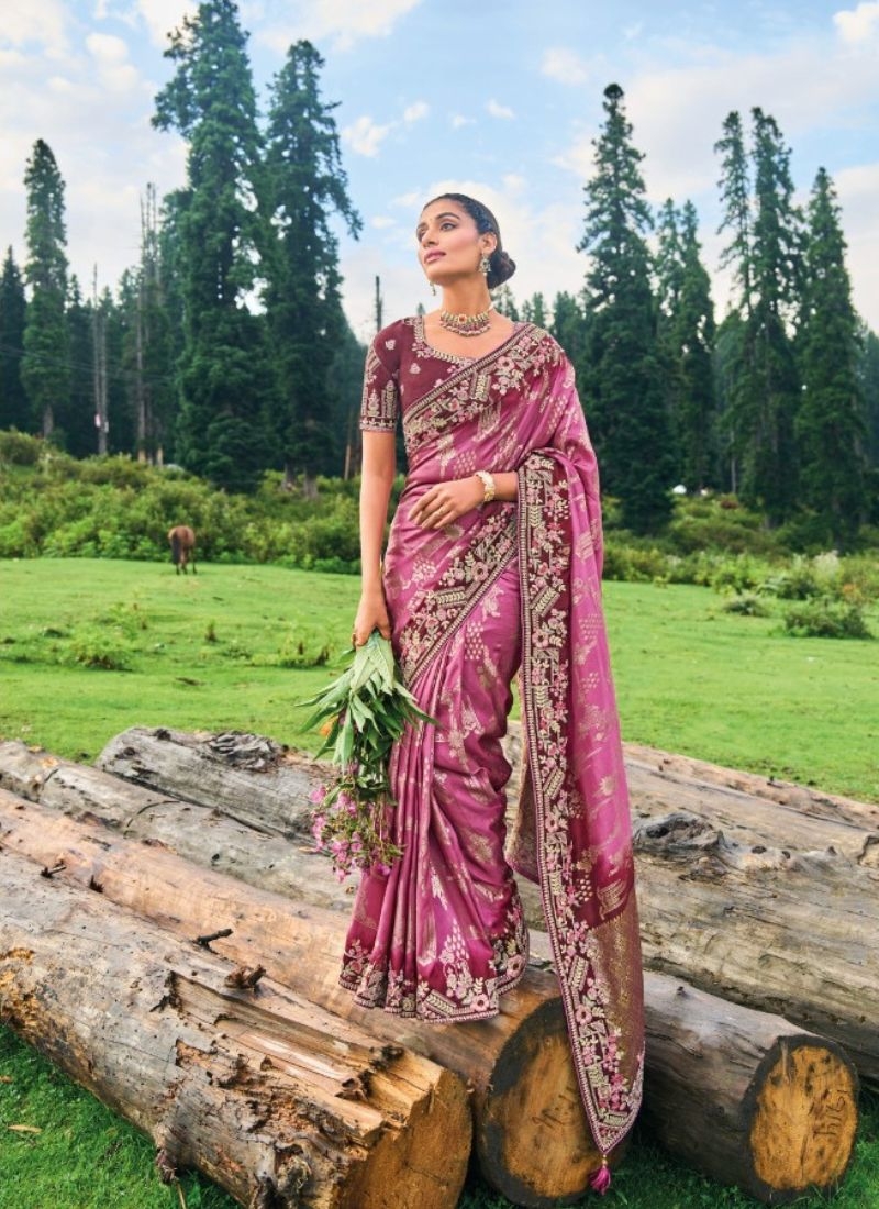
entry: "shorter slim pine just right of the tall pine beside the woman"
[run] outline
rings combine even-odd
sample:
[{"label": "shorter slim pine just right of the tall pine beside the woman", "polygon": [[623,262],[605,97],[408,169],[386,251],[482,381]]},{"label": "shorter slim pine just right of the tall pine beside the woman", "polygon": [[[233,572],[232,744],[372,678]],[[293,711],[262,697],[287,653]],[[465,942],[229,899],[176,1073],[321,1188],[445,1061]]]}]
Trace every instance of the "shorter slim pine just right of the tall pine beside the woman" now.
[{"label": "shorter slim pine just right of the tall pine beside the woman", "polygon": [[671,201],[659,222],[659,340],[667,366],[678,478],[690,490],[716,484],[715,308],[692,202]]}]

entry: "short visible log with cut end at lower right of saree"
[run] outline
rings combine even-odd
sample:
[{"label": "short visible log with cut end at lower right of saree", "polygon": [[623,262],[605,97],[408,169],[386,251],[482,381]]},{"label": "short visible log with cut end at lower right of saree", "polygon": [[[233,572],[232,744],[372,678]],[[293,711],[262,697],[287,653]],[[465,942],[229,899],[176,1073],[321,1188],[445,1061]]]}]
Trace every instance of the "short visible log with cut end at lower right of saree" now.
[{"label": "short visible log with cut end at lower right of saree", "polygon": [[765,1204],[834,1191],[854,1151],[857,1082],[839,1046],[646,976],[646,1123],[672,1153]]}]

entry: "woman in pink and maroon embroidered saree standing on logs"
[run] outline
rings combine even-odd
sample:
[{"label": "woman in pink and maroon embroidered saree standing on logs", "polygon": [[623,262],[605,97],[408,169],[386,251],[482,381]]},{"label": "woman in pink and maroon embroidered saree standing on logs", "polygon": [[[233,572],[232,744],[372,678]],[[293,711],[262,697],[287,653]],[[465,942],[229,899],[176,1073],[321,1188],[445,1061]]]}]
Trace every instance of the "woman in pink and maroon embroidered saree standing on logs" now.
[{"label": "woman in pink and maroon embroidered saree standing on logs", "polygon": [[[391,324],[366,359],[353,641],[374,629],[392,638],[438,724],[395,747],[403,856],[363,877],[341,982],[401,1016],[493,1016],[527,961],[513,869],[538,881],[606,1156],[637,1111],[643,1025],[595,457],[559,345],[492,310],[488,290],[515,265],[491,212],[444,195],[422,210],[416,239],[443,307]],[[382,567],[398,417],[410,469]],[[520,666],[524,775],[504,855],[499,740]]]}]

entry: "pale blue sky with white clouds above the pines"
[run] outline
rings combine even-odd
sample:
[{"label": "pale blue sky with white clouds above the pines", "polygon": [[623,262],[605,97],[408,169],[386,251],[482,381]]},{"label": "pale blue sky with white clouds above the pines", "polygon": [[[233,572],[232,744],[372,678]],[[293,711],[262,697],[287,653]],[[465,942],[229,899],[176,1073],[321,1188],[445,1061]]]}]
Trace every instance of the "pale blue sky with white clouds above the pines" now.
[{"label": "pale blue sky with white clouds above the pines", "polygon": [[[241,0],[261,103],[289,45],[325,60],[355,242],[340,227],[343,302],[362,339],[429,290],[415,259],[422,204],[455,189],[495,210],[517,300],[576,293],[583,185],[603,89],[623,87],[649,201],[695,203],[718,318],[729,282],[713,145],[727,114],[761,106],[792,149],[799,201],[825,167],[849,243],[855,305],[879,330],[879,2],[860,0]],[[23,264],[34,141],[66,184],[68,255],[91,290],[138,260],[140,198],[185,181],[186,149],[155,131],[185,0],[6,0],[0,23],[0,247]]]}]

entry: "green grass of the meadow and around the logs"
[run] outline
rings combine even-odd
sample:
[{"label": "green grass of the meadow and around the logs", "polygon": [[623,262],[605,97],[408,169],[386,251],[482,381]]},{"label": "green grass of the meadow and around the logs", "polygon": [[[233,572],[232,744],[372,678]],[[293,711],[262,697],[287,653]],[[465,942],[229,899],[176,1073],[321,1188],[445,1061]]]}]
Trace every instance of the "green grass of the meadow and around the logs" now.
[{"label": "green grass of the meadow and around the logs", "polygon": [[[345,648],[357,592],[349,577],[271,566],[204,566],[184,578],[155,563],[0,562],[0,734],[76,759],[134,724],[313,745],[295,702],[330,671],[297,664]],[[875,644],[790,638],[776,618],[724,613],[700,588],[611,583],[606,601],[628,739],[879,800]],[[863,1110],[834,1209],[879,1204],[879,1100],[864,1095]],[[232,1205],[197,1174],[181,1191],[189,1209]],[[158,1184],[148,1139],[0,1028],[0,1209],[179,1204]],[[507,1204],[473,1182],[461,1209]],[[754,1204],[640,1136],[603,1201]]]}]

